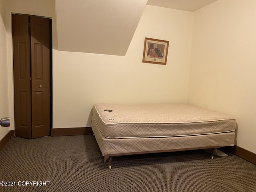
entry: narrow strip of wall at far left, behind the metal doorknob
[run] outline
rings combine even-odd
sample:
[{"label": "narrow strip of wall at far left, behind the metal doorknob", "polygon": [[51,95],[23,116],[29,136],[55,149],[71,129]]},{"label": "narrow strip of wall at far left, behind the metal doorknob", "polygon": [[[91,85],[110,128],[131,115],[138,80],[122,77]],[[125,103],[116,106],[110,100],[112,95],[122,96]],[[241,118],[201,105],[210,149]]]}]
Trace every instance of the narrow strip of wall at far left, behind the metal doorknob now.
[{"label": "narrow strip of wall at far left, behind the metal doorknob", "polygon": [[[9,116],[5,18],[4,0],[0,0],[0,118]],[[0,140],[8,131],[9,127],[0,126]]]}]

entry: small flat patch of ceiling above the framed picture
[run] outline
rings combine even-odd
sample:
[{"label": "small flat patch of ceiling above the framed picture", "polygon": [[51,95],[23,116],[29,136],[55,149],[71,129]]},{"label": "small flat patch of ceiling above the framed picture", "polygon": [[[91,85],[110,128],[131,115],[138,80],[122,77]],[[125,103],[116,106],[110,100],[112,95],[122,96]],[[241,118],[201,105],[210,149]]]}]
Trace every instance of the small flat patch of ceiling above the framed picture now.
[{"label": "small flat patch of ceiling above the framed picture", "polygon": [[194,12],[217,0],[148,0],[147,5]]}]

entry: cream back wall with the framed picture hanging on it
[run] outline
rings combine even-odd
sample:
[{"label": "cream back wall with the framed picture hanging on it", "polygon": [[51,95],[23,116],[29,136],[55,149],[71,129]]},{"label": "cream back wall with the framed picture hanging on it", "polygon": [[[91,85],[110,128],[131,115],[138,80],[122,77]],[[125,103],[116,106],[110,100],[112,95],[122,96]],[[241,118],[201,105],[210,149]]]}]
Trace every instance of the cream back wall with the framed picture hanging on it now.
[{"label": "cream back wall with the framed picture hanging on it", "polygon": [[[90,126],[95,103],[186,102],[192,20],[146,6],[126,56],[54,50],[53,128]],[[142,63],[145,37],[170,41],[167,65]]]}]

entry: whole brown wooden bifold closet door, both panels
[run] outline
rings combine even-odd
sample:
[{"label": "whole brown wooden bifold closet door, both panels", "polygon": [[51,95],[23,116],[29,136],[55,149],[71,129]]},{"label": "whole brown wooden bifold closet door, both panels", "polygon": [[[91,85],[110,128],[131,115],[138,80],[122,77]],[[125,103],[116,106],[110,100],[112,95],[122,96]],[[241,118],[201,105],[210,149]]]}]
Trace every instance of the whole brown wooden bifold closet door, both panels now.
[{"label": "whole brown wooden bifold closet door, both panels", "polygon": [[12,14],[15,135],[50,134],[50,19]]}]

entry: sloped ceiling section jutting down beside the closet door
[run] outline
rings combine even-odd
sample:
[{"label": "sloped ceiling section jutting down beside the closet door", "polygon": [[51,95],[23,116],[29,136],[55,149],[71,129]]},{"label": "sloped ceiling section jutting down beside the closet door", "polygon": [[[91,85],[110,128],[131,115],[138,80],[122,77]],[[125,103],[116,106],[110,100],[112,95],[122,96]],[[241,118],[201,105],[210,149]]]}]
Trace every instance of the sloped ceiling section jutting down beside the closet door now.
[{"label": "sloped ceiling section jutting down beside the closet door", "polygon": [[55,0],[58,50],[124,56],[147,0]]}]

